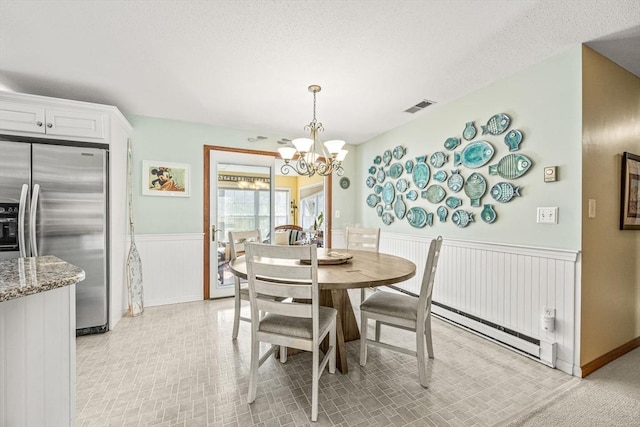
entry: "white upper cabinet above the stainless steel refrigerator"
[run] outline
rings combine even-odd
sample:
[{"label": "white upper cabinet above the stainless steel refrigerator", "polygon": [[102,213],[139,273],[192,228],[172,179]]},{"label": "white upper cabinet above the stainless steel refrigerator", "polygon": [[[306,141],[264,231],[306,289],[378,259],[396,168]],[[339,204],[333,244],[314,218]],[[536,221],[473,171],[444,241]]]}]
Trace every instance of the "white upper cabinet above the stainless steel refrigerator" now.
[{"label": "white upper cabinet above the stainless steel refrigerator", "polygon": [[101,140],[105,138],[105,116],[97,112],[3,100],[0,102],[0,129]]}]

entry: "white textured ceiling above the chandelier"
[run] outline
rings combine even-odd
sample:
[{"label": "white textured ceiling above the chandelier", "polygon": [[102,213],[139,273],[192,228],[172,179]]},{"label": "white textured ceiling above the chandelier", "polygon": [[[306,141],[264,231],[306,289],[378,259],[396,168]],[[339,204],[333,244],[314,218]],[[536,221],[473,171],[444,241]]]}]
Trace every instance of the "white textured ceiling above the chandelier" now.
[{"label": "white textured ceiling above the chandelier", "polygon": [[0,89],[273,143],[319,84],[323,139],[358,144],[585,42],[640,76],[640,1],[0,0]]}]

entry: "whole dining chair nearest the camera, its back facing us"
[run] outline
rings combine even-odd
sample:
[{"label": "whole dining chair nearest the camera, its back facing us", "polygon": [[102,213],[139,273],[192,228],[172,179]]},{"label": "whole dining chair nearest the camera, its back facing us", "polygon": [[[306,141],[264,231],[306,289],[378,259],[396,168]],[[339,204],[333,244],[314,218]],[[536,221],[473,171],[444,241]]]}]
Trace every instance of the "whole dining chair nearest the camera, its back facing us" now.
[{"label": "whole dining chair nearest the camera, its back facing us", "polygon": [[[278,346],[281,361],[286,361],[287,347],[306,350],[312,352],[313,361],[311,421],[317,421],[320,376],[327,363],[330,373],[336,371],[337,315],[336,309],[320,305],[317,247],[249,243],[246,261],[251,303],[251,369],[247,401],[255,401],[258,368]],[[278,300],[282,298],[293,301]],[[266,313],[262,318],[258,315],[261,311]],[[320,360],[320,343],[327,335],[329,347]],[[260,343],[271,344],[263,355],[260,355]]]}]

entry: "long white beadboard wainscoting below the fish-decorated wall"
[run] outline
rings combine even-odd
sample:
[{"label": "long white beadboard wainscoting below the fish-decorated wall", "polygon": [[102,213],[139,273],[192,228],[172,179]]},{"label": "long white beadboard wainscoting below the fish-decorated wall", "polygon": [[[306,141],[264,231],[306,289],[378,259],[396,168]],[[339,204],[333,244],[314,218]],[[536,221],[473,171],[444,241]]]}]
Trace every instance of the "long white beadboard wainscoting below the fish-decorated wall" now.
[{"label": "long white beadboard wainscoting below the fish-decorated wall", "polygon": [[[436,236],[382,232],[380,251],[415,262],[399,285],[418,293],[429,242]],[[574,371],[578,252],[445,239],[433,300],[499,327],[557,343],[556,366]],[[555,330],[542,329],[543,307],[555,309]],[[434,307],[434,312],[442,311]]]}]

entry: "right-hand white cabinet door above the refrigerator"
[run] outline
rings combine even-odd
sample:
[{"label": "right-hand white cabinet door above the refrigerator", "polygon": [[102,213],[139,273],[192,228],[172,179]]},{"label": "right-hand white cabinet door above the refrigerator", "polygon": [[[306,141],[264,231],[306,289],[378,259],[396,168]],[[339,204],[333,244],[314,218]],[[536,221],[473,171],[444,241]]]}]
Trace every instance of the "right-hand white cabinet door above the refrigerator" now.
[{"label": "right-hand white cabinet door above the refrigerator", "polygon": [[46,110],[47,135],[104,139],[104,115],[68,110]]}]

